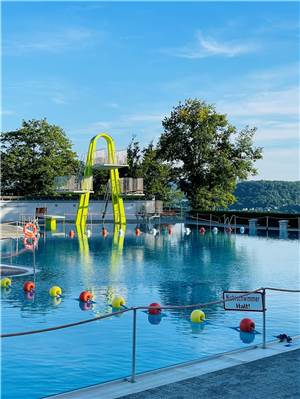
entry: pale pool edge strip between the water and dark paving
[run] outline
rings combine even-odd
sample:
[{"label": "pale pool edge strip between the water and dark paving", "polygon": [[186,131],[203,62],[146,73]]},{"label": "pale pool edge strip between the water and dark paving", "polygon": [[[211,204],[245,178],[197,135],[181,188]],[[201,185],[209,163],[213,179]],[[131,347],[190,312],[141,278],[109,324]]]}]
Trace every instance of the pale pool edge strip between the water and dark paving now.
[{"label": "pale pool edge strip between the water and dark paving", "polygon": [[204,359],[137,374],[135,383],[129,382],[128,379],[120,378],[65,393],[46,396],[44,399],[116,399],[297,349],[300,349],[300,335],[293,337],[291,346],[285,346],[284,343],[278,341],[268,342],[265,349],[262,348],[262,345],[252,345],[251,347],[213,355]]}]

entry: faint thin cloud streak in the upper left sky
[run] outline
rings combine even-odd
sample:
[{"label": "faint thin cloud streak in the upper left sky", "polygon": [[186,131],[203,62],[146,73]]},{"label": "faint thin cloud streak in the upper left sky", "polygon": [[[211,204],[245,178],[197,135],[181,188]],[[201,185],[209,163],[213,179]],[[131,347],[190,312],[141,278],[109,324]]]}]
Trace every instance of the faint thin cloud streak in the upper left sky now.
[{"label": "faint thin cloud streak in the upper left sky", "polygon": [[[101,34],[101,32],[100,32]],[[99,36],[99,32],[97,33]],[[94,32],[85,28],[69,28],[56,32],[40,32],[35,37],[17,37],[4,42],[3,50],[9,55],[22,55],[32,52],[60,53],[82,48],[91,44]]]}]

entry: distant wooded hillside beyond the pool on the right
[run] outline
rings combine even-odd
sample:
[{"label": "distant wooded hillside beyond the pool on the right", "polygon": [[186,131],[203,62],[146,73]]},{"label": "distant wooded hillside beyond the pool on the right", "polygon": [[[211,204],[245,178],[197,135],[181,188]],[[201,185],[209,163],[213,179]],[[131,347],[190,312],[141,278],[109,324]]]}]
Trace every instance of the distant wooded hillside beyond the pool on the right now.
[{"label": "distant wooded hillside beyond the pool on the right", "polygon": [[300,212],[300,181],[247,181],[237,185],[230,209]]}]

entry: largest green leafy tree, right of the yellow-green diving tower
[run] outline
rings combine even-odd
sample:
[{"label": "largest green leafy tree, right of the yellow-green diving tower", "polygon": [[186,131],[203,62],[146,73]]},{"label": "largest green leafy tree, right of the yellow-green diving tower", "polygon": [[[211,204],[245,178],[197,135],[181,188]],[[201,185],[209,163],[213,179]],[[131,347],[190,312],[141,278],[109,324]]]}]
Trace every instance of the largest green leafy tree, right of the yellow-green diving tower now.
[{"label": "largest green leafy tree, right of the yellow-green diving tower", "polygon": [[175,181],[194,209],[234,203],[238,179],[256,174],[262,149],[253,146],[256,128],[240,132],[213,105],[188,99],[162,125],[158,156],[173,168]]}]

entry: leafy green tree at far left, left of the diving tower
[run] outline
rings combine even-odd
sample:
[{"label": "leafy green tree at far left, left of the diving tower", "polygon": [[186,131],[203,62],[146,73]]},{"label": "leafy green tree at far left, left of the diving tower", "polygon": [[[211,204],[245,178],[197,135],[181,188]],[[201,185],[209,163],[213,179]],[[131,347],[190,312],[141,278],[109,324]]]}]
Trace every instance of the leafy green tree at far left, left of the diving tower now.
[{"label": "leafy green tree at far left, left of the diving tower", "polygon": [[46,119],[23,121],[21,128],[2,133],[2,192],[12,195],[52,195],[54,178],[79,168],[77,155],[64,131]]}]

